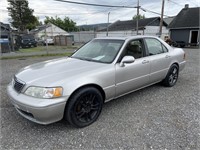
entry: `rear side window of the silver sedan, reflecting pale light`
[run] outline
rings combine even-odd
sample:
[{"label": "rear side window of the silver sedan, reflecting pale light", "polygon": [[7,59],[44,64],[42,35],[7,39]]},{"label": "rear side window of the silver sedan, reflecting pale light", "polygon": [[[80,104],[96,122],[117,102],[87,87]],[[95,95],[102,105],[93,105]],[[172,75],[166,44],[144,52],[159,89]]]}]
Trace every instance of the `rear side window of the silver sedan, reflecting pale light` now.
[{"label": "rear side window of the silver sedan, reflecting pale light", "polygon": [[147,38],[145,39],[145,41],[147,44],[149,55],[157,55],[168,51],[167,48],[157,39]]}]

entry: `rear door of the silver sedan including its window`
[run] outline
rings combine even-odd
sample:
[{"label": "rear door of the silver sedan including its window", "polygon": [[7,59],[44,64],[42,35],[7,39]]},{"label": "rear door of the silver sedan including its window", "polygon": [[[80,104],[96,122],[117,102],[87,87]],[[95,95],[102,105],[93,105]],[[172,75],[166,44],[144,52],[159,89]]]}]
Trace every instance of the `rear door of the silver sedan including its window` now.
[{"label": "rear door of the silver sedan including its window", "polygon": [[145,38],[147,55],[151,62],[150,83],[161,81],[165,78],[169,65],[170,53],[168,49],[156,38]]}]

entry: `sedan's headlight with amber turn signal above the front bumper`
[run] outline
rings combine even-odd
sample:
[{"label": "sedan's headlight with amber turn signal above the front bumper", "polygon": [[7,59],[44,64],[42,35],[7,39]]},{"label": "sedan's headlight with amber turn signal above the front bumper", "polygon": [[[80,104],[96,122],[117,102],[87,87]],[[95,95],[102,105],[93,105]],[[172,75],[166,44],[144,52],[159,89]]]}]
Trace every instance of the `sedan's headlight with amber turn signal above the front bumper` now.
[{"label": "sedan's headlight with amber turn signal above the front bumper", "polygon": [[37,98],[57,98],[62,96],[62,87],[29,87],[25,94]]}]

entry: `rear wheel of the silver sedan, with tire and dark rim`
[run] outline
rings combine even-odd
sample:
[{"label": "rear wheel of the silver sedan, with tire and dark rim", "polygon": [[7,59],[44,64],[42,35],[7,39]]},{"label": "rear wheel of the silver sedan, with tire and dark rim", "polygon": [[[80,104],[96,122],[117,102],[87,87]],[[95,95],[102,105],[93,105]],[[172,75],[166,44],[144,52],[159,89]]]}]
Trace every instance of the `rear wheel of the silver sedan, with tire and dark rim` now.
[{"label": "rear wheel of the silver sedan, with tire and dark rim", "polygon": [[170,67],[167,76],[163,80],[163,84],[167,87],[174,86],[178,80],[178,74],[179,74],[178,66],[176,64],[173,64]]}]

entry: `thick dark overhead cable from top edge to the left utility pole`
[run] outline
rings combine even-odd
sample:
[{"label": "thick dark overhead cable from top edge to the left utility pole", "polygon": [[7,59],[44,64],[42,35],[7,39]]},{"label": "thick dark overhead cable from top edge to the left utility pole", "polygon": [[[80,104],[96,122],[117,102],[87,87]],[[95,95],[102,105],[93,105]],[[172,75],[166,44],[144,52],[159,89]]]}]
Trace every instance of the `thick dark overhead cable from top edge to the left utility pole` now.
[{"label": "thick dark overhead cable from top edge to the left utility pole", "polygon": [[92,3],[82,3],[82,2],[72,2],[72,1],[66,1],[66,0],[54,0],[58,2],[65,2],[65,3],[72,3],[72,4],[78,4],[78,5],[89,5],[89,6],[97,6],[97,7],[117,7],[117,8],[137,8],[136,6],[117,6],[117,5],[101,5],[101,4],[92,4]]}]

